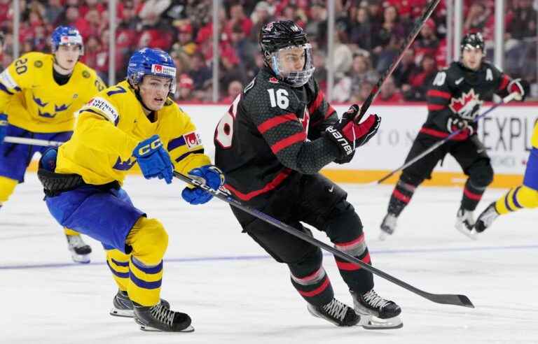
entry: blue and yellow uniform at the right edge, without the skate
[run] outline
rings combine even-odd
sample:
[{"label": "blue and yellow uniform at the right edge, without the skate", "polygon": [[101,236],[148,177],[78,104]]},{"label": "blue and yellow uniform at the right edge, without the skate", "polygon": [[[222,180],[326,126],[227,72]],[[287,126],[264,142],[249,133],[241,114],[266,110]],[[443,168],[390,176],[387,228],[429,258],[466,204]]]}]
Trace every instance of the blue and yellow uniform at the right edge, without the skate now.
[{"label": "blue and yellow uniform at the right edge, without the skate", "polygon": [[534,124],[531,145],[523,185],[511,189],[495,202],[495,210],[500,215],[522,208],[538,208],[538,123]]}]

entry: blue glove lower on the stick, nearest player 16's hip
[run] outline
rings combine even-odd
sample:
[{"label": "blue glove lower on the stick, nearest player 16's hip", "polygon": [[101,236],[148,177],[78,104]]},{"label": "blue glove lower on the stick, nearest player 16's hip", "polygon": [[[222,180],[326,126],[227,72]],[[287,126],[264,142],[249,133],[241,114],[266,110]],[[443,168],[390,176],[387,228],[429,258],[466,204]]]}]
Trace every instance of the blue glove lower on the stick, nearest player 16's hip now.
[{"label": "blue glove lower on the stick, nearest player 16's hip", "polygon": [[[205,180],[205,184],[214,190],[219,189],[219,187],[224,185],[224,174],[214,165],[205,165],[198,167],[197,169],[192,169],[188,174],[194,178],[202,178]],[[204,189],[201,189],[200,187],[194,187],[193,189],[186,187],[183,192],[181,192],[181,197],[191,204],[203,204],[212,199],[213,195],[209,194],[209,192],[205,192]]]}]

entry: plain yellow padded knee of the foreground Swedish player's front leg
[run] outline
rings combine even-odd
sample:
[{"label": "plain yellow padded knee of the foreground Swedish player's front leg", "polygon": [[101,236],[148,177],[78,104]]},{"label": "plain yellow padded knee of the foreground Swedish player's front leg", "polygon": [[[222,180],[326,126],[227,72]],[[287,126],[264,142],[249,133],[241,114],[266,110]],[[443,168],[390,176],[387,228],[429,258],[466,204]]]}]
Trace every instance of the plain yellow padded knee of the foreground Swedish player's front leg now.
[{"label": "plain yellow padded knee of the foreground Swedish player's front leg", "polygon": [[125,243],[132,247],[132,255],[142,263],[158,264],[168,247],[168,234],[158,220],[140,217]]}]

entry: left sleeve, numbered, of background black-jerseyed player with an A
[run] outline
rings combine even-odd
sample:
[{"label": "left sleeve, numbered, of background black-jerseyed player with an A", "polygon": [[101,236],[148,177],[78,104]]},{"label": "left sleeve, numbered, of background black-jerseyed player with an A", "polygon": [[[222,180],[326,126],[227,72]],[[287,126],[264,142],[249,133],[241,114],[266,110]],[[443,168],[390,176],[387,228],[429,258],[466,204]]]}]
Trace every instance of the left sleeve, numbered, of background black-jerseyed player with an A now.
[{"label": "left sleeve, numbered, of background black-jerseyed player with an A", "polygon": [[452,84],[453,77],[450,76],[450,69],[443,69],[437,73],[426,93],[429,117],[436,127],[444,131],[447,131],[448,117],[455,115],[449,107],[453,93]]}]

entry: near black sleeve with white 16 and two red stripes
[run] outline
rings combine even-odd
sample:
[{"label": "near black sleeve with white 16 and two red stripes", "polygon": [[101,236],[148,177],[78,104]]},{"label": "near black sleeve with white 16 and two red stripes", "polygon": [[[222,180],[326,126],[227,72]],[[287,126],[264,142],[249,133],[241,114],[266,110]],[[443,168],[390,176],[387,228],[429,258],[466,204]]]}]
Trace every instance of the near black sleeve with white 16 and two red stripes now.
[{"label": "near black sleeve with white 16 and two red stripes", "polygon": [[324,136],[307,141],[304,122],[299,113],[305,104],[298,101],[292,89],[283,85],[254,87],[245,102],[252,122],[268,143],[280,163],[301,173],[317,173],[338,157],[339,150]]}]

